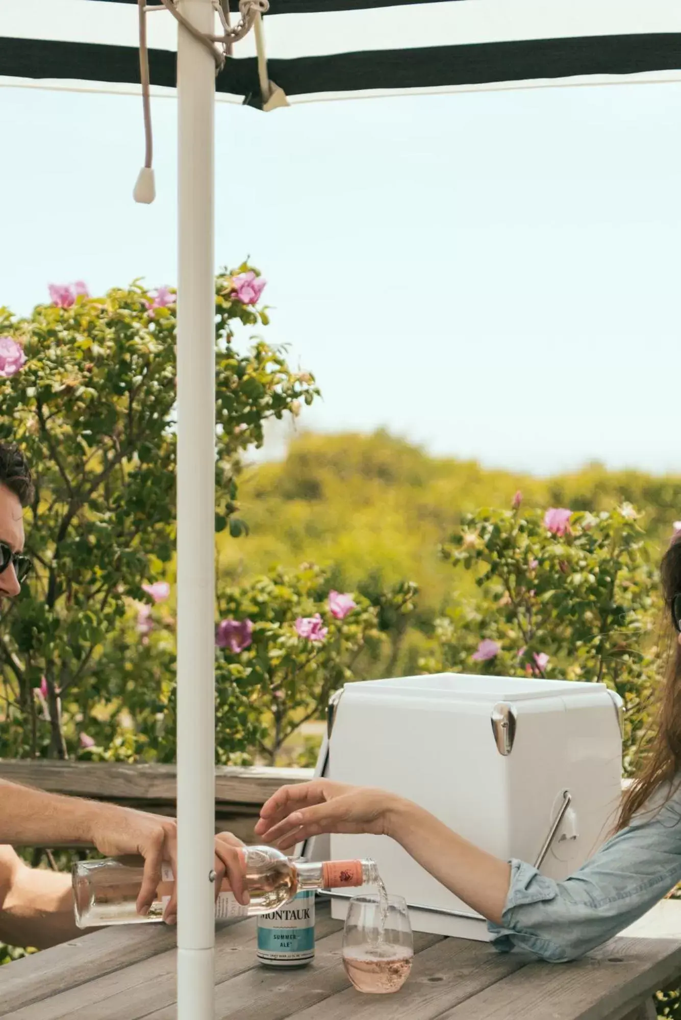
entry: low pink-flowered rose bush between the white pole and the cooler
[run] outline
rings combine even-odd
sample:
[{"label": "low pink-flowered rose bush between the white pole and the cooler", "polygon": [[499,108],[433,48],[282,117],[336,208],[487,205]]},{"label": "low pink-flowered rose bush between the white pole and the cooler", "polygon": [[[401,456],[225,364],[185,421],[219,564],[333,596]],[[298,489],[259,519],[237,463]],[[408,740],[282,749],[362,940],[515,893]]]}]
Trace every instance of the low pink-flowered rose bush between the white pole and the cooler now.
[{"label": "low pink-flowered rose bush between the white pole and the cooler", "polygon": [[[256,754],[273,764],[300,726],[324,717],[334,691],[363,679],[384,656],[389,638],[381,614],[409,616],[416,594],[416,585],[401,583],[370,602],[330,589],[327,572],[314,564],[274,568],[222,589],[218,643],[227,626],[231,633],[241,626],[245,638],[223,645],[217,662],[221,760],[242,751],[248,760]],[[310,755],[316,756],[314,742]]]}]

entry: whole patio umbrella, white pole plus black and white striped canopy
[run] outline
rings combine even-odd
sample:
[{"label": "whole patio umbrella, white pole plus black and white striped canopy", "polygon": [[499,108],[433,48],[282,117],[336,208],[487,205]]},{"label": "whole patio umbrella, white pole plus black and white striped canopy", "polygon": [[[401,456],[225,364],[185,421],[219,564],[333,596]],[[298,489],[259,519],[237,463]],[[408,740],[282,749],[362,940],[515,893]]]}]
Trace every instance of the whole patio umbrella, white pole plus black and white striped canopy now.
[{"label": "whole patio umbrella, white pole plus black and white striped canopy", "polygon": [[[210,34],[214,6],[213,0],[179,0],[178,10]],[[213,1016],[215,91],[262,104],[269,80],[295,102],[681,76],[678,0],[270,0],[264,20],[266,66],[251,34],[217,79],[210,49],[170,14],[154,14],[149,23],[151,85],[176,85],[178,107],[181,1020]],[[5,84],[41,87],[136,86],[137,0],[3,0],[0,74]]]}]

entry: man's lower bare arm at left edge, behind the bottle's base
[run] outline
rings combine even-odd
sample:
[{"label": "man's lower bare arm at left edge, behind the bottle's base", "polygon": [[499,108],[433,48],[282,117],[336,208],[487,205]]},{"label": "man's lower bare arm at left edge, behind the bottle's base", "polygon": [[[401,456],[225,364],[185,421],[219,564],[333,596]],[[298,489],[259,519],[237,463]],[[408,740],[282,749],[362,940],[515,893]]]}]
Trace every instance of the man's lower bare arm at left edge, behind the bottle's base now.
[{"label": "man's lower bare arm at left edge, behind the bottle's base", "polygon": [[70,875],[30,868],[11,847],[0,846],[0,939],[45,950],[83,934]]}]

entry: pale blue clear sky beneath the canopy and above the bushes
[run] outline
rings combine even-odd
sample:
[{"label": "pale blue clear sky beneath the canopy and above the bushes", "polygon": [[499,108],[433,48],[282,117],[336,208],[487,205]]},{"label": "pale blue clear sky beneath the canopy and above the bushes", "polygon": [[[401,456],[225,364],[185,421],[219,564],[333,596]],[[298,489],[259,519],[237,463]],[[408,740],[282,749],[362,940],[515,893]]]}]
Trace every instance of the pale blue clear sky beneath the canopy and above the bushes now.
[{"label": "pale blue clear sky beneath the canopy and above the bushes", "polygon": [[[176,280],[174,100],[0,89],[0,304]],[[216,263],[268,280],[300,426],[546,474],[681,472],[681,85],[216,107]],[[269,455],[281,450],[272,437]]]}]

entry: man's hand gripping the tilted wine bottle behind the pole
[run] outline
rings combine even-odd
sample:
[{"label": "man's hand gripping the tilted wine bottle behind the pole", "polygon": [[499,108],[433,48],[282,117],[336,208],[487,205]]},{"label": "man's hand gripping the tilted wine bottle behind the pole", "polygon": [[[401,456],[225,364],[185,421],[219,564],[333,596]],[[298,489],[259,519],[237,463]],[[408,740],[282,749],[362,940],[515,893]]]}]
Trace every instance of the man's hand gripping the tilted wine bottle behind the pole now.
[{"label": "man's hand gripping the tilted wine bottle behind the pole", "polygon": [[[147,914],[156,899],[161,881],[161,865],[167,862],[177,875],[177,823],[174,818],[147,814],[132,808],[110,804],[93,804],[90,837],[97,850],[106,857],[136,854],[144,858],[144,878],[137,901],[140,914]],[[230,832],[215,836],[215,897],[226,879],[238,903],[249,903],[244,888],[244,858],[239,849],[244,844]],[[177,884],[163,916],[168,924],[177,920]]]}]

